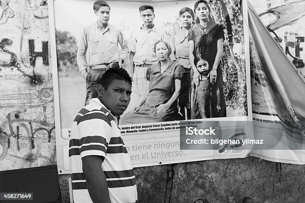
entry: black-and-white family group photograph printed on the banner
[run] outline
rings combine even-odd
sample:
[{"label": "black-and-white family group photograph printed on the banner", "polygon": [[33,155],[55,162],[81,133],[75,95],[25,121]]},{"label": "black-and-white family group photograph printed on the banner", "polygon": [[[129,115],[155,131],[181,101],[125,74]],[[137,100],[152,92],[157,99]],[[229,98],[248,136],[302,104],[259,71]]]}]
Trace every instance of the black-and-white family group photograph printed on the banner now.
[{"label": "black-and-white family group photograph printed on the banner", "polygon": [[133,79],[120,125],[248,115],[238,0],[94,2],[53,1],[61,128],[114,67]]}]

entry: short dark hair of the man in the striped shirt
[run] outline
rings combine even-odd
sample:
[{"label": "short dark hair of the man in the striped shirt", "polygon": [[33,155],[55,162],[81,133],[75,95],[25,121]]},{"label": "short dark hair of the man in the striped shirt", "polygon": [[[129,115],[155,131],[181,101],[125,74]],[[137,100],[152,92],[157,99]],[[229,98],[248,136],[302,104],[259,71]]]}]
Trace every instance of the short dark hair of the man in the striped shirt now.
[{"label": "short dark hair of the man in the striped shirt", "polygon": [[101,84],[105,90],[107,90],[111,82],[114,80],[122,80],[129,83],[130,85],[132,84],[132,80],[124,68],[108,69],[99,80],[99,84]]}]

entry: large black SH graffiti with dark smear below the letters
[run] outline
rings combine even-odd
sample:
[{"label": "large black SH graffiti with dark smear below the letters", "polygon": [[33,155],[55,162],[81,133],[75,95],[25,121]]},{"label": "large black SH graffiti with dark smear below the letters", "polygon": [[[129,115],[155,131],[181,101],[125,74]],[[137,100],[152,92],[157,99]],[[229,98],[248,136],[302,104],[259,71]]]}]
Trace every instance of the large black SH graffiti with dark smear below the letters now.
[{"label": "large black SH graffiti with dark smear below the letters", "polygon": [[[42,57],[42,63],[46,66],[49,65],[49,47],[48,41],[42,41],[42,51],[35,51],[35,41],[30,39],[28,40],[29,47],[29,63],[32,66],[32,75],[27,74],[24,69],[25,65],[17,62],[17,56],[13,52],[7,50],[6,47],[12,45],[12,40],[4,38],[0,41],[0,67],[4,68],[17,68],[25,77],[29,78],[29,83],[31,85],[41,85],[43,83],[43,77],[35,73],[35,63],[37,57]],[[1,69],[0,69],[1,71]]]}]

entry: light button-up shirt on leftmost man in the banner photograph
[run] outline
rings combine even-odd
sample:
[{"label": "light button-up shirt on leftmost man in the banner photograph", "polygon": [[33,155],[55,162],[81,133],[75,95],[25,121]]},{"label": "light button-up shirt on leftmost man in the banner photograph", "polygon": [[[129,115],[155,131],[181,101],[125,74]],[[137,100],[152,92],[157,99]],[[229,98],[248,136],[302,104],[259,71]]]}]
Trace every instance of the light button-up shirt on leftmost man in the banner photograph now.
[{"label": "light button-up shirt on leftmost man in the banner photograph", "polygon": [[[86,52],[88,52],[87,58]],[[87,65],[115,63],[119,58],[126,58],[128,54],[128,43],[123,33],[110,24],[102,31],[96,22],[83,30],[77,51],[77,64],[81,72]]]}]

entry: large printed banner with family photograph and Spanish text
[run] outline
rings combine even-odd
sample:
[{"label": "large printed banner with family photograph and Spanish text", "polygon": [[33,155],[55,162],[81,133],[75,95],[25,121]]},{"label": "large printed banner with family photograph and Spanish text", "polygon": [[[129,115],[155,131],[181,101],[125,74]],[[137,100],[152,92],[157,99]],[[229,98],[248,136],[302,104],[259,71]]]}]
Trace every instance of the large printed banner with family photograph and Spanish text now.
[{"label": "large printed banner with family photograph and Spanish text", "polygon": [[[90,32],[98,27],[95,23],[99,13],[93,10],[94,2],[53,0],[49,5],[52,61],[54,66],[57,64],[53,74],[54,87],[58,88],[54,97],[56,126],[60,126],[56,128],[59,171],[67,173],[69,170],[70,128],[85,105],[86,86],[95,80],[97,65],[103,66],[107,59],[117,62],[116,56],[124,56],[123,68],[133,76],[131,102],[119,119],[119,127],[134,167],[245,157],[250,149],[240,145],[239,148],[222,144],[214,150],[180,150],[188,145],[180,140],[180,133],[181,129],[185,132],[187,126],[205,126],[205,121],[215,121],[213,126],[231,129],[222,131],[220,139],[234,136],[253,139],[253,131],[249,130],[252,123],[239,122],[252,120],[250,71],[246,69],[249,67],[249,37],[248,30],[244,29],[247,26],[246,1],[243,5],[239,0],[205,1],[198,6],[195,0],[108,0],[109,24],[113,27],[103,31],[109,37],[103,38],[104,41]],[[145,4],[153,6],[153,12],[148,9],[141,13],[139,8]],[[181,10],[185,7],[188,8]],[[204,17],[209,20],[207,26],[198,25]],[[148,29],[146,25],[153,27],[148,26]],[[154,52],[153,45],[159,39],[171,47],[172,53],[165,57],[177,61],[183,68],[174,64],[164,74],[155,74],[163,60],[163,56]],[[217,47],[218,39],[222,40]],[[191,83],[190,44],[194,46],[195,68],[209,67],[200,71],[200,77],[197,75],[200,78],[197,86]],[[218,68],[217,50],[221,51]],[[213,66],[217,68],[214,79],[216,73],[210,72]],[[85,73],[86,80],[82,77]],[[178,93],[175,92],[178,86],[168,82],[174,79],[180,81]],[[148,96],[139,103],[145,91],[149,92]],[[165,92],[169,94],[164,95]],[[170,105],[164,106],[169,100]],[[236,122],[232,127],[226,121]],[[240,127],[240,132],[232,130],[236,126]]]}]

